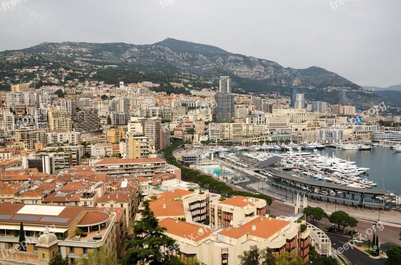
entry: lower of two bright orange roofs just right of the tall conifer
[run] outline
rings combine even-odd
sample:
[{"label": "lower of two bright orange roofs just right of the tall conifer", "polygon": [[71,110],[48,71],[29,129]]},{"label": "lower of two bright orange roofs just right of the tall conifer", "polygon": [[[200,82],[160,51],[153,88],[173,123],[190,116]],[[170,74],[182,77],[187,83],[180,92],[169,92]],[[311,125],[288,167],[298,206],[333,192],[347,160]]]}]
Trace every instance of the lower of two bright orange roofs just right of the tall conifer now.
[{"label": "lower of two bright orange roofs just right of the tall conifer", "polygon": [[[210,228],[193,223],[187,223],[184,221],[178,221],[177,223],[177,220],[170,217],[159,221],[159,226],[167,228],[167,233],[180,237],[186,237],[189,240],[193,241],[202,240],[208,237],[209,234],[213,231]],[[200,232],[199,229],[202,229],[202,232]]]}]

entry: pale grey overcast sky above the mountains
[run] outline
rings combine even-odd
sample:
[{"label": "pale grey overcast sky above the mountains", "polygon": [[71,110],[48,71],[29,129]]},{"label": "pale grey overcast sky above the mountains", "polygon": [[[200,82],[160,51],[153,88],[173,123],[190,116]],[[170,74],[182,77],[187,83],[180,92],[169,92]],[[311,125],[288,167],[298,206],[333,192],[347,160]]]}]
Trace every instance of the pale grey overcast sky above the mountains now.
[{"label": "pale grey overcast sky above the mountains", "polygon": [[398,0],[18,1],[0,0],[1,51],[170,37],[284,67],[323,67],[358,85],[401,84]]}]

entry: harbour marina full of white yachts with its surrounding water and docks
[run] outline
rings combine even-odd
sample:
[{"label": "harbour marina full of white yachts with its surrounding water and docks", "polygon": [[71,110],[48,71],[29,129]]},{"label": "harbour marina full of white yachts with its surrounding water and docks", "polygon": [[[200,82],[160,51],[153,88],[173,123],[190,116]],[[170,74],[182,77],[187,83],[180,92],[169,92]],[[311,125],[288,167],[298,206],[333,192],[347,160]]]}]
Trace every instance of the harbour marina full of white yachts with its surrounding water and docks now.
[{"label": "harbour marina full of white yachts with its surrounding water and docks", "polygon": [[401,152],[397,148],[364,143],[213,147],[198,151],[197,166],[217,163],[213,175],[238,183],[236,180],[243,173],[215,161],[221,159],[259,173],[258,177],[280,194],[298,192],[344,205],[396,209],[401,204],[401,196],[397,195],[401,190],[401,180],[397,177],[401,171]]}]

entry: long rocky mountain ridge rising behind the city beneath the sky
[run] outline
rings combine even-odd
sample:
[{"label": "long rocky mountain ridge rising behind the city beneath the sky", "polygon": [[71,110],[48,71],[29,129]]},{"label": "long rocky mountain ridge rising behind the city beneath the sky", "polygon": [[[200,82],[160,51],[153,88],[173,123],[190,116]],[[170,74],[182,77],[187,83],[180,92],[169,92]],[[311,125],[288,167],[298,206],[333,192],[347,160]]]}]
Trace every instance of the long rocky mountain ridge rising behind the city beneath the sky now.
[{"label": "long rocky mountain ridge rising behind the city beneath the sky", "polygon": [[230,76],[233,89],[246,92],[279,92],[289,96],[291,88],[297,87],[300,93],[305,93],[307,99],[313,99],[316,90],[319,90],[323,98],[333,104],[353,103],[361,95],[361,98],[366,99],[361,106],[376,105],[380,100],[374,93],[318,66],[306,69],[285,68],[267,59],[234,54],[215,46],[171,38],[145,45],[46,42],[23,50],[0,52],[0,57],[21,52],[51,58],[71,67],[85,66],[92,70],[112,65],[119,69],[148,73],[189,73],[212,82],[217,82],[219,76]]}]

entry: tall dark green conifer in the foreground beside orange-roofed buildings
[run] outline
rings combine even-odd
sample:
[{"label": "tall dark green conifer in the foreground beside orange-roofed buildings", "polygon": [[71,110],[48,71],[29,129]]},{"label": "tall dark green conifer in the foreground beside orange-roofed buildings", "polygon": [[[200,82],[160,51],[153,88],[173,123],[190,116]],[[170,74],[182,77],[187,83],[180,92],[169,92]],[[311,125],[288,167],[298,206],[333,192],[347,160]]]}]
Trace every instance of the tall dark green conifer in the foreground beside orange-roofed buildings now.
[{"label": "tall dark green conifer in the foreground beside orange-roofed buildings", "polygon": [[[183,264],[175,256],[165,253],[164,247],[174,246],[175,240],[164,234],[165,227],[158,226],[158,220],[150,210],[149,200],[142,202],[143,209],[139,209],[141,220],[133,224],[134,237],[127,240],[128,254],[121,259],[122,265],[137,264]],[[172,262],[175,263],[172,263]]]}]

